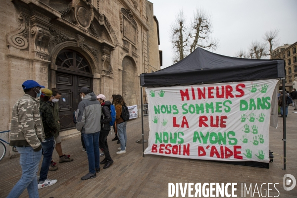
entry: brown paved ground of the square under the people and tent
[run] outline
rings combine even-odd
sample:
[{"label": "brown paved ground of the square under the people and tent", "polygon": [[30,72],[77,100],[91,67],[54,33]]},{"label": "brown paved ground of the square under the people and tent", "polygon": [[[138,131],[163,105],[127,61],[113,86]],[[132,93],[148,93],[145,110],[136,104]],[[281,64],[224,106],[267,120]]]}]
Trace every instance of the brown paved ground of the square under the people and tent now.
[{"label": "brown paved ground of the square under the people and tent", "polygon": [[[181,159],[146,155],[142,157],[142,145],[135,141],[141,138],[141,119],[129,121],[127,124],[127,153],[117,155],[119,145],[111,142],[114,135],[108,138],[108,145],[114,164],[102,169],[97,178],[82,181],[80,178],[88,172],[86,152],[82,151],[80,137],[62,142],[64,153],[71,154],[73,162],[57,164],[58,170],[49,172],[50,179],[57,179],[57,184],[39,190],[42,198],[165,198],[168,197],[168,183],[238,183],[238,197],[241,197],[241,184],[255,184],[259,191],[262,183],[279,183],[276,188],[280,198],[297,198],[297,187],[292,191],[283,189],[283,176],[286,173],[297,178],[297,113],[289,107],[287,119],[287,170],[283,168],[283,121],[279,118],[278,129],[270,128],[270,149],[274,152],[274,162],[269,169],[247,166],[229,165],[214,161]],[[145,118],[145,138],[148,139],[148,118]],[[145,145],[147,146],[147,144]],[[58,160],[54,151],[53,159]],[[102,158],[103,159],[103,158]],[[101,159],[101,160],[102,160]],[[40,163],[41,165],[41,163]],[[6,197],[13,185],[21,177],[19,156],[0,162],[0,197]],[[267,190],[267,185],[263,186]],[[269,196],[278,196],[278,192],[270,185]],[[265,196],[265,191],[262,190]],[[181,197],[181,195],[179,195]],[[188,194],[186,194],[186,197]],[[21,195],[28,197],[27,190]],[[246,196],[250,197],[250,196]],[[255,194],[254,197],[258,197]]]}]

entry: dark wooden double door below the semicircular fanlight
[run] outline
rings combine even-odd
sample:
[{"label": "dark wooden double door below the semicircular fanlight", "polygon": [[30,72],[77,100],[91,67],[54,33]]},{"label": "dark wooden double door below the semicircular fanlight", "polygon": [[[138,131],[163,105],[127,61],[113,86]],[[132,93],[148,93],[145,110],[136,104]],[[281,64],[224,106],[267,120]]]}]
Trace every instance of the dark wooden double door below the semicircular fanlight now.
[{"label": "dark wooden double door below the semicircular fanlight", "polygon": [[89,77],[72,75],[69,73],[56,72],[56,88],[62,96],[59,100],[59,116],[61,131],[74,129],[73,112],[77,109],[78,103],[82,101],[79,91],[82,87],[93,90],[93,79]]}]

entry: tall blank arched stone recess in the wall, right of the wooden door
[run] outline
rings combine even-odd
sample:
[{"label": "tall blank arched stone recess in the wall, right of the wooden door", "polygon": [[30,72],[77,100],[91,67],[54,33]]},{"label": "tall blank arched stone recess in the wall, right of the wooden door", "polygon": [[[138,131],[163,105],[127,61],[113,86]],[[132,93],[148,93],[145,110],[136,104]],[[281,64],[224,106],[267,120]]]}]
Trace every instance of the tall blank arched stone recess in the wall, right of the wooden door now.
[{"label": "tall blank arched stone recess in the wall, right of the wooden door", "polygon": [[135,62],[129,57],[125,56],[122,61],[122,93],[123,98],[128,106],[137,104],[136,90],[135,90]]}]

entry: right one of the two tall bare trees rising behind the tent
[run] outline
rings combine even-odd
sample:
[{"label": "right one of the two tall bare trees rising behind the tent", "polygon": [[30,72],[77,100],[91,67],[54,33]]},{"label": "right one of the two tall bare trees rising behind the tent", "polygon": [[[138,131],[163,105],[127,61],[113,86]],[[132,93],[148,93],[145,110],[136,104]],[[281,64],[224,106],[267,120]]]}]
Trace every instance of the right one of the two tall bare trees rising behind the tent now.
[{"label": "right one of the two tall bare trees rising behind the tent", "polygon": [[203,9],[196,8],[196,11],[194,12],[194,20],[189,33],[190,53],[192,53],[197,47],[216,49],[218,46],[218,40],[212,39],[211,33],[211,16]]}]

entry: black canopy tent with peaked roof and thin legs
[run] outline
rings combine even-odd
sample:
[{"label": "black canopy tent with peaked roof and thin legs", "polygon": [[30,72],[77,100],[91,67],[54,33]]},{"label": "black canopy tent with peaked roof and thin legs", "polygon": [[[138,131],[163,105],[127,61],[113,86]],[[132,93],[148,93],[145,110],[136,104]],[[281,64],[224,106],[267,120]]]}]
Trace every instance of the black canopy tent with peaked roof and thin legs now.
[{"label": "black canopy tent with peaked roof and thin legs", "polygon": [[[197,48],[183,60],[153,73],[140,75],[143,87],[169,87],[264,79],[283,79],[285,91],[285,61],[282,59],[246,59],[224,56]],[[285,94],[283,94],[283,105]],[[143,97],[141,97],[144,152]],[[284,116],[284,169],[286,169],[286,122]],[[144,154],[143,154],[144,156]],[[234,162],[232,162],[234,163]],[[242,162],[241,162],[242,163]],[[237,163],[238,164],[238,163]],[[255,164],[247,164],[258,166]]]}]

